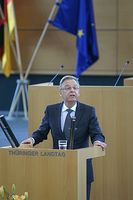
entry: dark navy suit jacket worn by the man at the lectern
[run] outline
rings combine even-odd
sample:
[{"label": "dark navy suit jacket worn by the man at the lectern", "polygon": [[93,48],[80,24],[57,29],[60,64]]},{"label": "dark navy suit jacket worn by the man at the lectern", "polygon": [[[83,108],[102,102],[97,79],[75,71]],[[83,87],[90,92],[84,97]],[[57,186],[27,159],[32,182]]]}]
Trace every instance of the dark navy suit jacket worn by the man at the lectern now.
[{"label": "dark navy suit jacket worn by the man at the lectern", "polygon": [[[54,149],[58,149],[58,140],[66,139],[61,130],[62,105],[63,103],[58,103],[47,106],[45,116],[42,119],[39,129],[32,134],[32,137],[35,140],[35,145],[46,140],[50,130],[53,138]],[[78,102],[75,116],[74,149],[88,147],[89,138],[91,138],[92,144],[96,140],[104,141],[104,136],[99,127],[94,107]],[[93,181],[91,159],[87,161],[87,166],[87,181],[91,182]]]}]

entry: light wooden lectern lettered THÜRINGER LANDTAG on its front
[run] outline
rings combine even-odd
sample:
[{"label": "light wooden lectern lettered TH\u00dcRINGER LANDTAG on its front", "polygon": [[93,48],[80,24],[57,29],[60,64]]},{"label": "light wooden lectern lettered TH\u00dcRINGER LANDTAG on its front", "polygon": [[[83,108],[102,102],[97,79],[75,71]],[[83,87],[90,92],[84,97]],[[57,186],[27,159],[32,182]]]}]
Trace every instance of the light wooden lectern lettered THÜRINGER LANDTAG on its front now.
[{"label": "light wooden lectern lettered TH\u00dcRINGER LANDTAG on its front", "polygon": [[86,200],[86,159],[104,156],[100,147],[78,150],[0,149],[0,186],[29,200]]}]

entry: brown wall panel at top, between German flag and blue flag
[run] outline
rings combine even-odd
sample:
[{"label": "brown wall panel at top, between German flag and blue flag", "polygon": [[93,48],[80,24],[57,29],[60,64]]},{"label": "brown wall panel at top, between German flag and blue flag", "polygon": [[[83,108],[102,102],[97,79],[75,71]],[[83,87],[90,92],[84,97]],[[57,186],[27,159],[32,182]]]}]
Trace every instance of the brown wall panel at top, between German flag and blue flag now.
[{"label": "brown wall panel at top, between German flag and blue flag", "polygon": [[47,22],[54,0],[15,0],[19,29],[41,29]]}]

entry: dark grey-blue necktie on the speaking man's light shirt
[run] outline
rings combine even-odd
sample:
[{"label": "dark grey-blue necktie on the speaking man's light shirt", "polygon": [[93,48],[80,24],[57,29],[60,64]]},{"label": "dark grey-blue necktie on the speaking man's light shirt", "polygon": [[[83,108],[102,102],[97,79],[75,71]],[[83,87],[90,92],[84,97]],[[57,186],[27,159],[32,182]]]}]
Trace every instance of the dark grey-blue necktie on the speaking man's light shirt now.
[{"label": "dark grey-blue necktie on the speaking man's light shirt", "polygon": [[69,140],[69,138],[70,138],[70,128],[71,128],[71,116],[70,116],[70,114],[71,114],[71,112],[73,110],[67,109],[66,111],[68,113],[67,113],[67,116],[66,116],[66,119],[65,119],[65,124],[64,124],[64,130],[63,130],[63,132],[64,132],[64,134],[66,136],[66,139]]}]

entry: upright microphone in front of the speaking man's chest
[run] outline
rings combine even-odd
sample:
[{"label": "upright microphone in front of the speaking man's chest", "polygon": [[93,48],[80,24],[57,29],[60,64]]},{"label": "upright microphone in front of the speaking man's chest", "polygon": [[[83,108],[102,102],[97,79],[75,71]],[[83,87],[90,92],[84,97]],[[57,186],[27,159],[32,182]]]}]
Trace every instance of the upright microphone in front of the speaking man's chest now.
[{"label": "upright microphone in front of the speaking man's chest", "polygon": [[73,149],[73,145],[74,145],[75,122],[76,122],[76,117],[72,116],[71,117],[71,128],[70,128],[70,149]]}]

